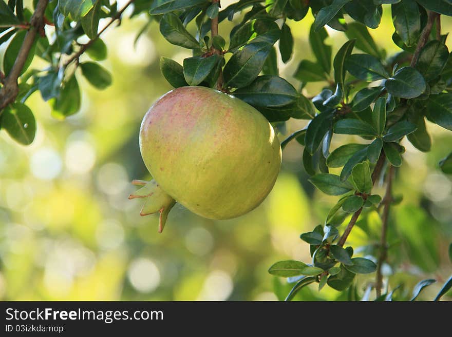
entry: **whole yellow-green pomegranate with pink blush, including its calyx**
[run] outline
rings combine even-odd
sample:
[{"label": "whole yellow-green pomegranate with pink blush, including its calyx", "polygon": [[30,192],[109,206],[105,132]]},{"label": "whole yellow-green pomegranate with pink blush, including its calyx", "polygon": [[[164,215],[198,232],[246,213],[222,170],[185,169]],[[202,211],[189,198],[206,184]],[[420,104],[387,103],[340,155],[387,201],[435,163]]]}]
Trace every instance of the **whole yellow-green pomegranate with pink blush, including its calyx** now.
[{"label": "whole yellow-green pomegranate with pink blush, including its calyx", "polygon": [[153,176],[129,199],[145,198],[141,215],[160,212],[159,232],[176,201],[208,219],[231,219],[269,194],[281,164],[266,118],[232,95],[206,87],[167,92],[147,111],[140,151]]}]

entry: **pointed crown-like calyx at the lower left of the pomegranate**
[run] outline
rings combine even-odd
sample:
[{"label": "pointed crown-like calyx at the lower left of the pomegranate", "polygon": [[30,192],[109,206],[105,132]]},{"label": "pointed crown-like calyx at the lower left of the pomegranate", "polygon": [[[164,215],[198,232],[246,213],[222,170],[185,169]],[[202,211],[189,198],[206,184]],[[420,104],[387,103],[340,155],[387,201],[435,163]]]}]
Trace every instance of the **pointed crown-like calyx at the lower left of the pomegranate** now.
[{"label": "pointed crown-like calyx at the lower left of the pomegranate", "polygon": [[140,215],[149,215],[156,212],[160,212],[159,218],[159,233],[163,231],[165,227],[168,213],[176,204],[176,201],[171,195],[168,195],[159,184],[153,179],[150,182],[143,180],[134,180],[133,185],[141,186],[134,193],[129,195],[129,199],[146,198],[146,201],[141,208]]}]

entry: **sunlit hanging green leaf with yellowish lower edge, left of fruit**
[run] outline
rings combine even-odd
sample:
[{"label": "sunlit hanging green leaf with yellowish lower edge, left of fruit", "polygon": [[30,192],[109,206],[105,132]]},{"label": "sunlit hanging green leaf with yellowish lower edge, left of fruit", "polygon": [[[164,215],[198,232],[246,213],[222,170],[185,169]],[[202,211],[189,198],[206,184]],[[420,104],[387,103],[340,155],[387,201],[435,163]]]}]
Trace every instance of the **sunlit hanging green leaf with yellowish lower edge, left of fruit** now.
[{"label": "sunlit hanging green leaf with yellowish lower edge, left of fruit", "polygon": [[53,102],[52,115],[56,118],[64,118],[76,113],[79,109],[80,88],[76,76],[72,75]]}]

